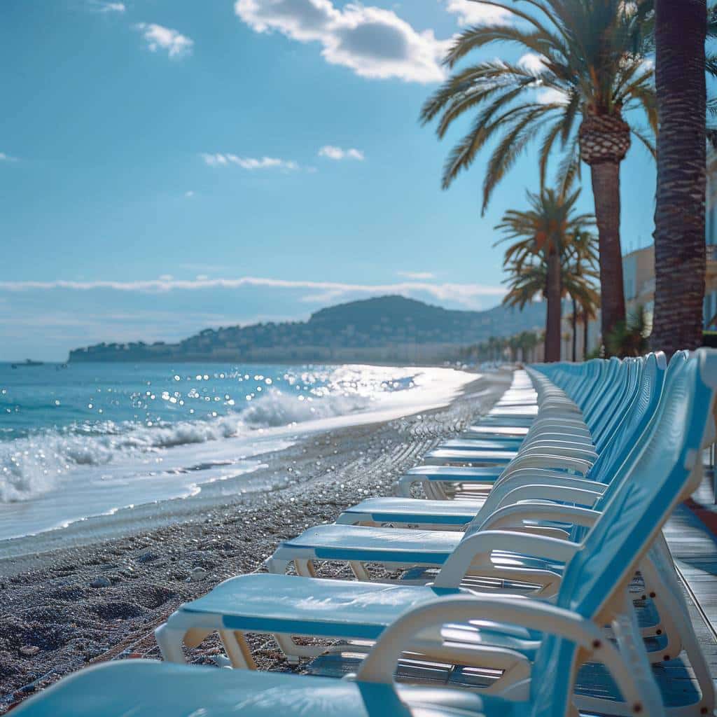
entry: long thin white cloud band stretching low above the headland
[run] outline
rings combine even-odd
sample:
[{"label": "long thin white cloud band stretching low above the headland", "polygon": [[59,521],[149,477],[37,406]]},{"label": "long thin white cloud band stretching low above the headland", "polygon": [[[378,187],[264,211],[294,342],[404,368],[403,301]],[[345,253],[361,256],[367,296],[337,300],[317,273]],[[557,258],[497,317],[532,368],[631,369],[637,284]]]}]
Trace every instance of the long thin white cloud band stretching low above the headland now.
[{"label": "long thin white cloud band stretching low above the headland", "polygon": [[239,289],[265,287],[276,290],[309,290],[312,294],[303,298],[306,303],[323,303],[346,295],[380,296],[400,294],[404,296],[428,296],[437,301],[454,302],[469,308],[478,308],[482,297],[501,297],[505,289],[483,284],[433,284],[424,281],[406,281],[394,284],[351,284],[332,281],[305,281],[244,276],[238,278],[209,279],[200,275],[195,279],[175,279],[168,276],[158,279],[136,281],[0,281],[0,291],[28,292],[47,290],[112,290],[121,292],[167,293],[170,291],[196,291],[206,289]]}]

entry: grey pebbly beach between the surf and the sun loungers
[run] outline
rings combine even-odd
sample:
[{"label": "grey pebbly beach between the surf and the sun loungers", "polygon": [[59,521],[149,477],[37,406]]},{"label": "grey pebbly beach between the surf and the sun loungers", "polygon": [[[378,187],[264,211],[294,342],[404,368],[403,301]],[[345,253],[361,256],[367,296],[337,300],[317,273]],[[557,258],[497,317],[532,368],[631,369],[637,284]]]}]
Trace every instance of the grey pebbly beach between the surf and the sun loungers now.
[{"label": "grey pebbly beach between the surf and the sun loungers", "polygon": [[[0,713],[88,663],[158,657],[153,629],[181,602],[260,571],[279,541],[333,522],[346,506],[393,494],[405,470],[488,411],[510,381],[509,371],[485,374],[445,408],[308,435],[261,457],[264,467],[247,482],[254,492],[227,496],[222,486],[203,487],[196,499],[6,544]],[[277,476],[281,487],[267,490]],[[288,668],[269,636],[252,636],[251,644],[260,668]],[[188,658],[206,663],[219,652],[218,640],[209,638]]]}]

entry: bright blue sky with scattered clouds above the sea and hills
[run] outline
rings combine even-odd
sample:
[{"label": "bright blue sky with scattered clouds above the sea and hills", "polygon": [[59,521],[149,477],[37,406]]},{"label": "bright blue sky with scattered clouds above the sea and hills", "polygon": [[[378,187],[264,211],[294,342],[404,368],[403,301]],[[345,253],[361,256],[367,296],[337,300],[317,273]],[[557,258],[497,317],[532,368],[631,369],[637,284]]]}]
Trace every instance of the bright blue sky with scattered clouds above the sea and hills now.
[{"label": "bright blue sky with scattered clouds above the sea and hills", "polygon": [[[535,151],[482,218],[487,156],[441,191],[459,135],[417,122],[447,42],[482,13],[468,0],[4,0],[0,361],[384,293],[499,303],[493,227],[536,188]],[[623,176],[627,250],[652,233],[644,149]]]}]

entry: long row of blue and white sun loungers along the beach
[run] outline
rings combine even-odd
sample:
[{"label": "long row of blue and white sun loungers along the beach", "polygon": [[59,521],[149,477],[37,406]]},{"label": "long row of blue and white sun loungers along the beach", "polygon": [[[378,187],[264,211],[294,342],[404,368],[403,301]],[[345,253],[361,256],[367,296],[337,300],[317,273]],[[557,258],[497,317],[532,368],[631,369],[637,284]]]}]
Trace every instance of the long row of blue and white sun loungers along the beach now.
[{"label": "long row of blue and white sun loungers along the beach", "polygon": [[[179,607],[156,631],[164,662],[80,670],[16,714],[712,714],[662,528],[701,481],[716,390],[717,351],[706,349],[669,365],[652,353],[516,371],[480,423],[402,477],[397,497],[348,508],[281,543],[267,573]],[[324,561],[349,577],[321,579]],[[213,632],[232,669],[184,664],[184,648]],[[259,672],[247,633],[274,635],[290,662],[332,655],[353,671]],[[665,701],[654,670],[677,655],[699,687],[680,703]],[[410,678],[432,665],[483,679]],[[609,689],[591,688],[595,675]]]}]

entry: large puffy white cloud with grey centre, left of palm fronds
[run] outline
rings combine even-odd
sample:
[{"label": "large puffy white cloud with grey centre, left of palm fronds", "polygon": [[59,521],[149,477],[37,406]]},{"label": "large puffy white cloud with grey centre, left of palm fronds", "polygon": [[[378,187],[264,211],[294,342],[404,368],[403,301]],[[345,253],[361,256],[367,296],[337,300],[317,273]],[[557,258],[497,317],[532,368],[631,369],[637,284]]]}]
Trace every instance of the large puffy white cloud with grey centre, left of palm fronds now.
[{"label": "large puffy white cloud with grey centre, left of palm fronds", "polygon": [[450,41],[418,32],[394,11],[331,0],[236,0],[234,12],[255,32],[278,31],[298,42],[319,42],[331,65],[356,75],[406,82],[439,82]]}]

